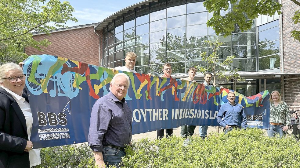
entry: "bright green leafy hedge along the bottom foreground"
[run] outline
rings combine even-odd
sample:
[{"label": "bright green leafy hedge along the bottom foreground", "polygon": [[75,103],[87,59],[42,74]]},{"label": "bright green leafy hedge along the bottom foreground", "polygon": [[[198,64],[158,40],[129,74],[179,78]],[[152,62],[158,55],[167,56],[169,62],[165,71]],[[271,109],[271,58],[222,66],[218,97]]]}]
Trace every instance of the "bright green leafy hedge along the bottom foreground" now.
[{"label": "bright green leafy hedge along the bottom foreground", "polygon": [[[126,168],[299,168],[300,143],[294,136],[269,138],[261,129],[234,130],[208,139],[192,136],[188,146],[177,136],[140,139],[127,147]],[[82,146],[42,149],[36,167],[93,167],[91,150]]]}]

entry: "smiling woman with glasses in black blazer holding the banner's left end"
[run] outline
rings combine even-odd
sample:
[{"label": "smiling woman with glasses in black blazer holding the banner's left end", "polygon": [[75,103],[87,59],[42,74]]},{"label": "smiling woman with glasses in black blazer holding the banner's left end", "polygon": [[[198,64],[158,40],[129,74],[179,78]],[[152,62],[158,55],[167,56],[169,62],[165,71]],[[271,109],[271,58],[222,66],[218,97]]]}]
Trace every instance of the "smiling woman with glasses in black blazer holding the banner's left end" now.
[{"label": "smiling woman with glasses in black blazer holding the banner's left end", "polygon": [[16,63],[0,66],[0,167],[30,168],[41,164],[40,149],[30,140],[32,114],[26,75]]}]

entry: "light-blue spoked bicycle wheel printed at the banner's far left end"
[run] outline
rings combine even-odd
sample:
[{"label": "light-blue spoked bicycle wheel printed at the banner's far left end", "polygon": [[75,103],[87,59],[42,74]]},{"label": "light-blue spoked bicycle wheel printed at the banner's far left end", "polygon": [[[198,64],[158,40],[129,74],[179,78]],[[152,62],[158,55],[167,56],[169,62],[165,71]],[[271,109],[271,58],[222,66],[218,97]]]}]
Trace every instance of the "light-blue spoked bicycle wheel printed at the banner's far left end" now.
[{"label": "light-blue spoked bicycle wheel printed at the banner's far left end", "polygon": [[30,93],[34,95],[42,94],[41,80],[45,78],[45,74],[40,74],[37,72],[38,65],[41,61],[29,59],[31,61],[29,64],[25,64],[23,67],[24,73],[26,73],[25,84]]}]

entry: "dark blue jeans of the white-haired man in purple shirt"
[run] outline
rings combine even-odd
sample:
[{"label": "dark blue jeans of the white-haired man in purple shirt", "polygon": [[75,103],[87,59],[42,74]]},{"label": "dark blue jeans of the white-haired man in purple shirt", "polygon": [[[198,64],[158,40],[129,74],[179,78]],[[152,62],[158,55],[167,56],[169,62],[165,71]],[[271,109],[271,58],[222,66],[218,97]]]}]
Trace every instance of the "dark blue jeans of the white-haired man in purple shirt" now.
[{"label": "dark blue jeans of the white-haired man in purple shirt", "polygon": [[102,155],[103,161],[107,167],[112,165],[116,165],[118,167],[122,157],[125,156],[125,151],[124,149],[118,150],[115,148],[103,146]]}]

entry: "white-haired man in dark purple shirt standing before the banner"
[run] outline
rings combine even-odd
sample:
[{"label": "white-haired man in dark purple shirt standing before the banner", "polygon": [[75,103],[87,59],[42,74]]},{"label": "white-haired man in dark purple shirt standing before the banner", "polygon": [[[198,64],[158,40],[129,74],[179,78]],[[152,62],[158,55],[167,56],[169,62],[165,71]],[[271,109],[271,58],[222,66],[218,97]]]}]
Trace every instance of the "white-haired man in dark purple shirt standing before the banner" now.
[{"label": "white-haired man in dark purple shirt standing before the banner", "polygon": [[110,92],[99,98],[92,108],[88,144],[99,168],[118,166],[125,156],[125,145],[131,144],[132,111],[124,98],[129,83],[126,74],[114,75]]}]

